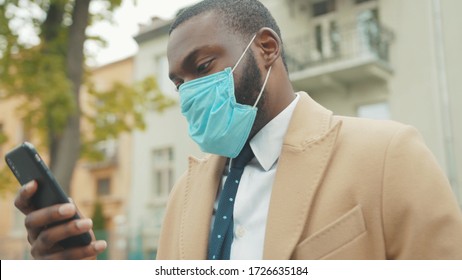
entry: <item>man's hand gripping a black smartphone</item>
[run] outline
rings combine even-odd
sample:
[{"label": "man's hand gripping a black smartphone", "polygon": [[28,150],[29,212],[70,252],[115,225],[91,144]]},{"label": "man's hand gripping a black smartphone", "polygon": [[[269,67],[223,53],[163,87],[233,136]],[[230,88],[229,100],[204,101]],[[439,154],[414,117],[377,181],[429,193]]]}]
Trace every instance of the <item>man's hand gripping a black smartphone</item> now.
[{"label": "man's hand gripping a black smartphone", "polygon": [[92,243],[91,220],[81,219],[31,144],[23,143],[5,159],[24,186],[15,205],[26,214],[25,224],[34,257],[87,258],[105,249],[104,241]]}]

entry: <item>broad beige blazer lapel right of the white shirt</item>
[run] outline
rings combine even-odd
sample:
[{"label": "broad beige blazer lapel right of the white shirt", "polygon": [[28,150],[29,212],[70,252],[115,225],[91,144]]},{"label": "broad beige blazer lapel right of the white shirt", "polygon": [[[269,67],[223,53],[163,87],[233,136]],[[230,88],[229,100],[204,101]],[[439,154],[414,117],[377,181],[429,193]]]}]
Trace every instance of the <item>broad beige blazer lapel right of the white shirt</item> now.
[{"label": "broad beige blazer lapel right of the white shirt", "polygon": [[332,123],[332,112],[299,94],[271,194],[264,259],[290,259],[341,127]]}]

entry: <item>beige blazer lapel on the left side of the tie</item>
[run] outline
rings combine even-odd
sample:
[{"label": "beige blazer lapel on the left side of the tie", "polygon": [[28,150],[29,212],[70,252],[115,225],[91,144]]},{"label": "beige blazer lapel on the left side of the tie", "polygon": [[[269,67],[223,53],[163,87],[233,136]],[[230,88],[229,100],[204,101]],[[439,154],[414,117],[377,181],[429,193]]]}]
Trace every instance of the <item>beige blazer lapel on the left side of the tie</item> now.
[{"label": "beige blazer lapel on the left side of the tie", "polygon": [[[185,207],[181,215],[181,259],[206,259],[213,204],[226,159],[190,159]],[[190,180],[194,178],[194,181]]]}]

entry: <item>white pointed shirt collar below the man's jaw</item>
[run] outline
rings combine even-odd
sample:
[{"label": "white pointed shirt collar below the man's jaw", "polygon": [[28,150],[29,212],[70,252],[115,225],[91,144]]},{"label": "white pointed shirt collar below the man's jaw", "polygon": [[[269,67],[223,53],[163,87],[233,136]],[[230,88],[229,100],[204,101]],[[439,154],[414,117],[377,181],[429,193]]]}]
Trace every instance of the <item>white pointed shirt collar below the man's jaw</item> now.
[{"label": "white pointed shirt collar below the man's jaw", "polygon": [[250,147],[255,154],[255,158],[265,171],[270,170],[279,158],[284,136],[299,98],[300,96],[297,94],[289,106],[267,123],[250,140]]}]

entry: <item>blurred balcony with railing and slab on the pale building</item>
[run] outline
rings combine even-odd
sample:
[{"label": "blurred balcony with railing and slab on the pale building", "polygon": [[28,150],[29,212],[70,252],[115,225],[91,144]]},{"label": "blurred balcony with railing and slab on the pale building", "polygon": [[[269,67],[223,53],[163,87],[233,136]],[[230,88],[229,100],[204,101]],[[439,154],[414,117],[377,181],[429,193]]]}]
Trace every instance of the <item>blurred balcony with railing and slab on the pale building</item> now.
[{"label": "blurred balcony with railing and slab on the pale building", "polygon": [[297,90],[345,90],[358,82],[387,81],[393,73],[393,33],[378,23],[339,26],[286,40],[286,61]]}]

